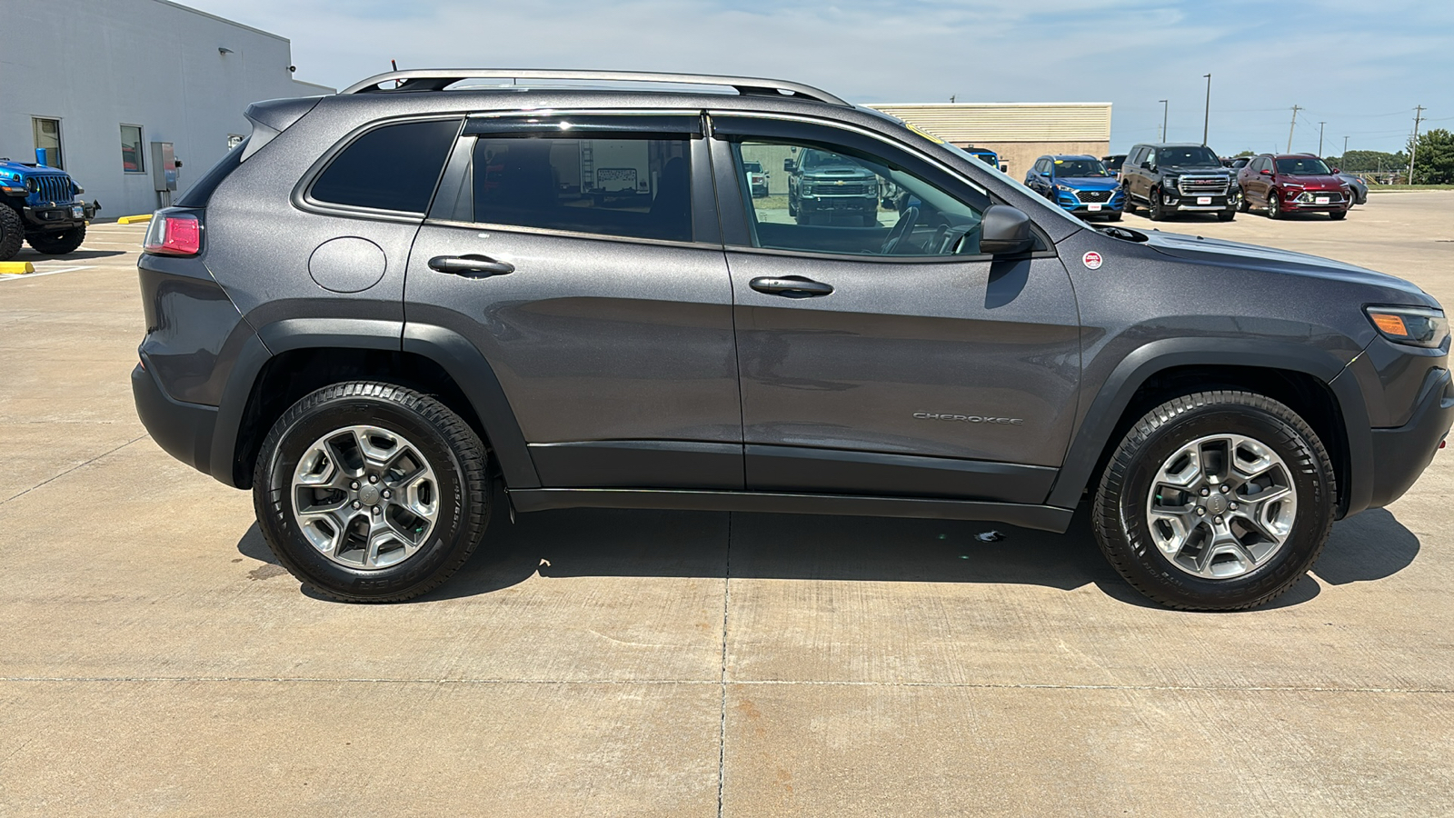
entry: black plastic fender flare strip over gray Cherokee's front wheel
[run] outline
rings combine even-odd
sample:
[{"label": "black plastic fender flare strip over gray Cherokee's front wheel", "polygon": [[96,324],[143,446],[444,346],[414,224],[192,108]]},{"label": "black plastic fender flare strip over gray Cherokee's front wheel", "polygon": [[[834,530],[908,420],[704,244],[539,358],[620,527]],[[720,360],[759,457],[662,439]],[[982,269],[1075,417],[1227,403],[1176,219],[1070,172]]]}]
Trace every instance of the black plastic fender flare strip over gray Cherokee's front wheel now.
[{"label": "black plastic fender flare strip over gray Cherokee's front wheel", "polygon": [[1101,453],[1115,442],[1111,435],[1131,403],[1131,396],[1152,376],[1186,365],[1287,370],[1317,378],[1333,394],[1343,421],[1351,476],[1351,485],[1343,493],[1346,514],[1367,508],[1373,496],[1373,485],[1367,477],[1373,469],[1373,438],[1362,392],[1354,378],[1338,377],[1348,364],[1323,349],[1248,338],[1166,338],[1146,344],[1122,358],[1086,409],[1045,504],[1075,508],[1095,477]]}]

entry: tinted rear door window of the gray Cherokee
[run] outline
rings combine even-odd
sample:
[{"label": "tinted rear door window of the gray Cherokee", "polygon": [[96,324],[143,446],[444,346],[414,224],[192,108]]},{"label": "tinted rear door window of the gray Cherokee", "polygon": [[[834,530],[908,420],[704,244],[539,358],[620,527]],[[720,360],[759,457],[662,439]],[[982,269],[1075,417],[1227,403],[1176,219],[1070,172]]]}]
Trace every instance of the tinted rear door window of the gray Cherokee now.
[{"label": "tinted rear door window of the gray Cherokee", "polygon": [[688,140],[489,138],[474,146],[474,220],[692,240]]}]

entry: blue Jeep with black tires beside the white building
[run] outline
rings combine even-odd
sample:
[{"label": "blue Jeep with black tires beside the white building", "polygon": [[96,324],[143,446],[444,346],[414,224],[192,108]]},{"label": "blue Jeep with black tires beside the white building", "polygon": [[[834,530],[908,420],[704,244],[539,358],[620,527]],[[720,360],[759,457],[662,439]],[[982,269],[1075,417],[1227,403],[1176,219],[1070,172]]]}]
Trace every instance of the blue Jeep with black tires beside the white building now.
[{"label": "blue Jeep with black tires beside the white building", "polygon": [[83,192],[58,167],[0,159],[0,262],[13,259],[20,242],[48,256],[80,247],[86,223],[100,210],[83,202]]}]

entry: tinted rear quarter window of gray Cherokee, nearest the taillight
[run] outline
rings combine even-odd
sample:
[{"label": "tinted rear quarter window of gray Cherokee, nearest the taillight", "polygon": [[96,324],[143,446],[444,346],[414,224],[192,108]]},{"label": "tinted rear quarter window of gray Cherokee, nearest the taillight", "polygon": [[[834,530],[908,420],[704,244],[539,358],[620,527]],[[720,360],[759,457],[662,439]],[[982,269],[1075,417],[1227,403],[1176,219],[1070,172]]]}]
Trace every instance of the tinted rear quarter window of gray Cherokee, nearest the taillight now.
[{"label": "tinted rear quarter window of gray Cherokee, nearest the taillight", "polygon": [[458,119],[375,128],[343,148],[311,195],[320,202],[425,213],[458,132]]}]

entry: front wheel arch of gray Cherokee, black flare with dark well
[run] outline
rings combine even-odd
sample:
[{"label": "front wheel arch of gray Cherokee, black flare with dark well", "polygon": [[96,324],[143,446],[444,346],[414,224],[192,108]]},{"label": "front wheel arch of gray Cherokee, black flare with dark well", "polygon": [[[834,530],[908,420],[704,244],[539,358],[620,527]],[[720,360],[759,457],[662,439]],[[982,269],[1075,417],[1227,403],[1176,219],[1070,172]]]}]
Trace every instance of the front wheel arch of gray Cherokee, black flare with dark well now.
[{"label": "front wheel arch of gray Cherokee, black flare with dark well", "polygon": [[[1211,346],[1204,344],[1211,342]],[[1255,361],[1248,364],[1248,361]],[[1367,507],[1368,413],[1330,352],[1250,339],[1165,339],[1127,355],[1101,386],[1066,453],[1047,505],[1073,508],[1115,445],[1152,408],[1194,392],[1242,389],[1285,403],[1317,432],[1338,474],[1339,517]],[[1364,434],[1357,434],[1358,429]]]}]

